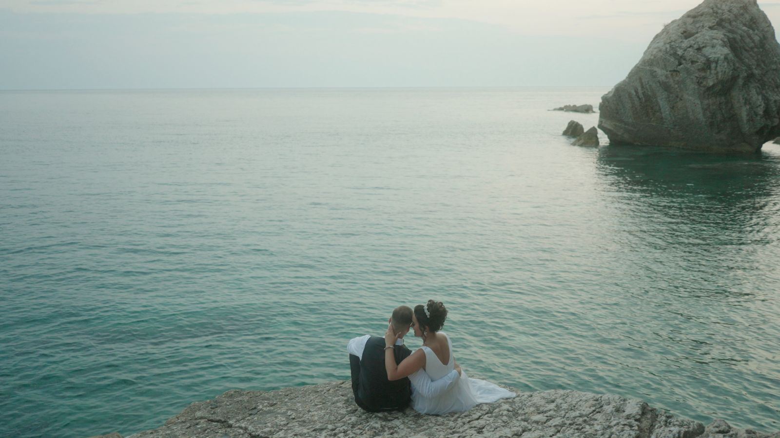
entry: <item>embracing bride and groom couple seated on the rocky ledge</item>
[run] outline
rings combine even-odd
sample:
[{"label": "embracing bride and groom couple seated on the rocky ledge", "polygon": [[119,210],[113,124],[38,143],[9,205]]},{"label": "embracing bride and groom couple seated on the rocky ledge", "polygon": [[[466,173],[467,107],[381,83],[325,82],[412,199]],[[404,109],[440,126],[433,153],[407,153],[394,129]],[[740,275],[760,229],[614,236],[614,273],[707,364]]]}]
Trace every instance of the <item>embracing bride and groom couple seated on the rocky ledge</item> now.
[{"label": "embracing bride and groom couple seated on the rocky ledge", "polygon": [[[515,394],[485,380],[470,379],[452,355],[452,341],[441,330],[447,309],[429,300],[414,310],[393,310],[385,337],[365,335],[349,341],[349,366],[355,403],[368,412],[402,410],[410,402],[422,414],[464,412]],[[403,344],[410,329],[423,339],[412,352]]]}]

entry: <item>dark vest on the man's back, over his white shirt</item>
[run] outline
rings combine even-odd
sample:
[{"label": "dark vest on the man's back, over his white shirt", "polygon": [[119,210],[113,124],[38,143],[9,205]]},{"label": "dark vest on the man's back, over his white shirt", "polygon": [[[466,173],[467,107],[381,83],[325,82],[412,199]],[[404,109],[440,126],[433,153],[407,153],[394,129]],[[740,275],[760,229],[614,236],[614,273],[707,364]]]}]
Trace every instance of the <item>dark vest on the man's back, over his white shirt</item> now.
[{"label": "dark vest on the man's back, over his white shirt", "polygon": [[[406,345],[395,345],[393,355],[399,364],[412,354]],[[352,390],[355,402],[368,412],[406,409],[411,401],[411,383],[408,378],[391,382],[385,368],[385,338],[372,336],[363,349],[363,358],[349,355],[352,371]]]}]

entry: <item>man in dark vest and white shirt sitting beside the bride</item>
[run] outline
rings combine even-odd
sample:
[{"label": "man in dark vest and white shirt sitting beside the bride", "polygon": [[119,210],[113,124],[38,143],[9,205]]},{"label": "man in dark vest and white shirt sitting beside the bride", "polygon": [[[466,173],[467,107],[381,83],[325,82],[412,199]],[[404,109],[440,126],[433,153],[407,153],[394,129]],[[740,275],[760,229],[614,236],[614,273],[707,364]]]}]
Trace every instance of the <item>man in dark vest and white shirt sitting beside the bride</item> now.
[{"label": "man in dark vest and white shirt sitting beside the bride", "polygon": [[396,307],[388,323],[393,333],[398,336],[395,345],[387,346],[385,337],[368,334],[355,337],[347,344],[355,403],[368,412],[405,409],[410,403],[412,384],[414,390],[424,397],[435,397],[449,390],[459,379],[458,371],[453,369],[447,376],[431,382],[431,377],[424,369],[420,369],[408,378],[392,382],[388,380],[385,347],[393,349],[396,364],[412,354],[403,344],[403,337],[409,333],[412,324],[412,309],[409,306]]}]

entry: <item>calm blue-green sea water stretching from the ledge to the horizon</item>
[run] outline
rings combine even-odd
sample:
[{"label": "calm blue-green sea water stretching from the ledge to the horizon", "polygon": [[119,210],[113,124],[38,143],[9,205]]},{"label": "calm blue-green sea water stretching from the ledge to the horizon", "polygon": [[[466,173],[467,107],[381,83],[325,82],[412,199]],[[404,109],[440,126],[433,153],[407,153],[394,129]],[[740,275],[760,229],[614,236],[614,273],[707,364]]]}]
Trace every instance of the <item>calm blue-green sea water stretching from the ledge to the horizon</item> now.
[{"label": "calm blue-green sea water stretching from the ledge to the horizon", "polygon": [[429,298],[473,375],[780,429],[780,147],[570,146],[606,91],[0,93],[0,435],[343,380]]}]

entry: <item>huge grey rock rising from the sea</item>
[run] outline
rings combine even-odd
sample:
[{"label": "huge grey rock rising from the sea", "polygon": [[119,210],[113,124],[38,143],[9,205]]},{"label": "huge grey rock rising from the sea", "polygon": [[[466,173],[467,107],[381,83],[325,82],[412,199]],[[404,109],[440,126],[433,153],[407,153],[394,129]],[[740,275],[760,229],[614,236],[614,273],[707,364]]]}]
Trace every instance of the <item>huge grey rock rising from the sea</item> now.
[{"label": "huge grey rock rising from the sea", "polygon": [[780,44],[756,0],[704,0],[601,97],[612,144],[756,151],[780,135]]}]

